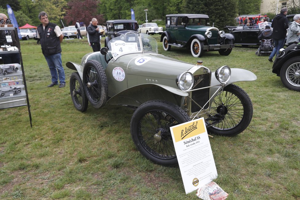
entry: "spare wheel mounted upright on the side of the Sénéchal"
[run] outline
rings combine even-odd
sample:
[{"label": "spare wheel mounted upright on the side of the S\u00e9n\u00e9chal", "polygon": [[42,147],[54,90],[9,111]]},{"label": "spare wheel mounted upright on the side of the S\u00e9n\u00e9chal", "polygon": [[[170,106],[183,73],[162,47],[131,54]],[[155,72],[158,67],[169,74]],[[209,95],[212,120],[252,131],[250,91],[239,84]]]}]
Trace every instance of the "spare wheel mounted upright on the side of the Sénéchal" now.
[{"label": "spare wheel mounted upright on the side of the S\u00e9n\u00e9chal", "polygon": [[97,60],[89,60],[83,68],[83,88],[90,104],[100,108],[106,104],[108,85],[105,71]]}]

